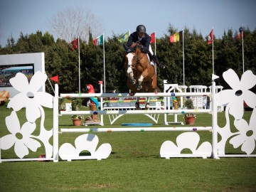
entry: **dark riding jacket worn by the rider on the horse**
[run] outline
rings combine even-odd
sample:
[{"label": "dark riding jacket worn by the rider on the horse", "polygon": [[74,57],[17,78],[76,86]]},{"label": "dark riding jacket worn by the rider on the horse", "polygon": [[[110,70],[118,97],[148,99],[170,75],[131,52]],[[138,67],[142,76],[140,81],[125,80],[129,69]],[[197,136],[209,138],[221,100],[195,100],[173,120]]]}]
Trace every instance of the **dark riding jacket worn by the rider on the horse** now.
[{"label": "dark riding jacket worn by the rider on the horse", "polygon": [[[135,31],[134,33],[132,33],[129,36],[128,41],[127,41],[127,46],[130,47],[130,46],[132,46],[132,43],[136,43],[137,41],[139,41],[139,36],[138,36],[137,32]],[[151,41],[151,37],[147,33],[145,33],[142,40],[139,41],[140,43],[142,43],[142,46],[144,46],[142,49],[142,51],[144,53],[149,53],[150,41]]]}]

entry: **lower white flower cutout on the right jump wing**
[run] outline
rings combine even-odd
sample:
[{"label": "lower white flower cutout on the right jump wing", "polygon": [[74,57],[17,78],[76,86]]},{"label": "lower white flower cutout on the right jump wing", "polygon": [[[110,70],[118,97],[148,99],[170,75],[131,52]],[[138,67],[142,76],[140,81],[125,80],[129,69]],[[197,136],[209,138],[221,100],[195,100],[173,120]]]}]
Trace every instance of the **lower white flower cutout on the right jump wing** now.
[{"label": "lower white flower cutout on the right jump wing", "polygon": [[242,145],[242,151],[245,151],[247,155],[252,154],[256,140],[256,109],[252,111],[249,124],[245,119],[235,120],[234,124],[239,130],[239,134],[230,139],[230,144],[233,144],[234,148]]}]

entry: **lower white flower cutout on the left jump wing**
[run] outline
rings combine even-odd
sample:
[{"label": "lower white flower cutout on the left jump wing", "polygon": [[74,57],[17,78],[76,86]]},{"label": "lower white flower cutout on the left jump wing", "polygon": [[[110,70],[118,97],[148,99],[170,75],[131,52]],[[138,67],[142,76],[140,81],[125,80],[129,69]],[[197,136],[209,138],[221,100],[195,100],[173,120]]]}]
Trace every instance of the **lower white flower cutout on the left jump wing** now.
[{"label": "lower white flower cutout on the left jump wing", "polygon": [[11,112],[6,117],[6,127],[11,134],[1,137],[1,149],[10,149],[14,146],[14,151],[19,158],[28,155],[28,149],[36,151],[41,144],[31,138],[31,134],[36,129],[36,123],[26,122],[20,126],[16,112]]}]

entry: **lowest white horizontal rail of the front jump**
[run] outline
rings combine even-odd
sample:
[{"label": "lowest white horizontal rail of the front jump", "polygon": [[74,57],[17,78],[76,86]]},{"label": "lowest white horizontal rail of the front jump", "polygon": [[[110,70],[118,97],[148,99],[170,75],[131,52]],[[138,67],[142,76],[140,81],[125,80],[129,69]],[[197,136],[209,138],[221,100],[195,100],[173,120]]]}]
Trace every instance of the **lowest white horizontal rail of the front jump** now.
[{"label": "lowest white horizontal rail of the front jump", "polygon": [[212,127],[125,127],[125,128],[61,128],[60,132],[196,132],[211,131]]}]

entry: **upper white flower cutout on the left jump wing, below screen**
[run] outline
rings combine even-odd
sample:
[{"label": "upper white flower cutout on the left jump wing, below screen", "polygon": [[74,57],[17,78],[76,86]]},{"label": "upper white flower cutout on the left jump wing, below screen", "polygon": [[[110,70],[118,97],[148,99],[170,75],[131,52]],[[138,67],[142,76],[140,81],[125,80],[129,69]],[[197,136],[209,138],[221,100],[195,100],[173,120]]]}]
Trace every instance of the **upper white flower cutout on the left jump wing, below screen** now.
[{"label": "upper white flower cutout on the left jump wing, below screen", "polygon": [[[41,117],[40,105],[53,108],[53,96],[47,92],[37,92],[46,82],[46,78],[46,74],[37,71],[28,83],[28,79],[23,73],[17,73],[14,78],[10,79],[10,83],[20,93],[10,100],[7,107],[13,108],[14,111],[26,107],[28,122],[35,122],[38,117]],[[28,97],[28,94],[33,97]]]}]

